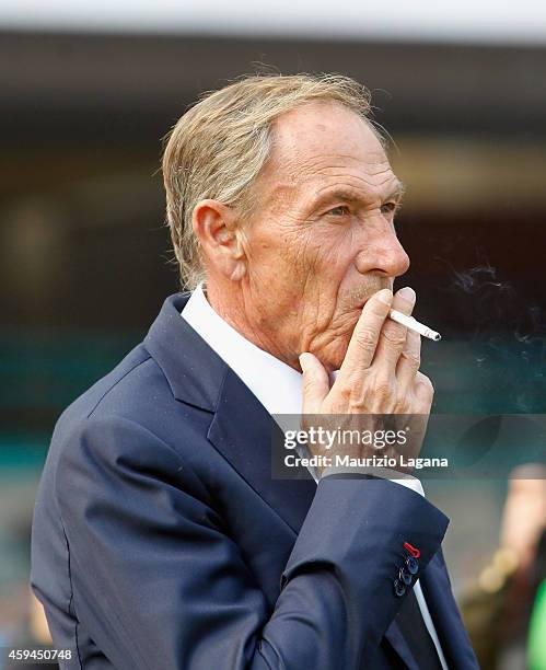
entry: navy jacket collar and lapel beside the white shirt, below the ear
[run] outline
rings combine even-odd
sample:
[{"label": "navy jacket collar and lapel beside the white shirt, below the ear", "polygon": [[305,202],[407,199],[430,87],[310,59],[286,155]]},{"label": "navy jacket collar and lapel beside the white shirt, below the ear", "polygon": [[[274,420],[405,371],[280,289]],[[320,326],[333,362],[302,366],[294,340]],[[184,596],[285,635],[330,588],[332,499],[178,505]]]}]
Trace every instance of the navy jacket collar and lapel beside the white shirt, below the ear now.
[{"label": "navy jacket collar and lapel beside the white shirt, below the ear", "polygon": [[[297,480],[271,477],[271,444],[280,429],[264,406],[181,316],[189,293],[167,298],[144,347],[174,397],[213,414],[207,438],[256,493],[299,533],[316,492],[305,467]],[[274,454],[276,452],[274,451]]]}]

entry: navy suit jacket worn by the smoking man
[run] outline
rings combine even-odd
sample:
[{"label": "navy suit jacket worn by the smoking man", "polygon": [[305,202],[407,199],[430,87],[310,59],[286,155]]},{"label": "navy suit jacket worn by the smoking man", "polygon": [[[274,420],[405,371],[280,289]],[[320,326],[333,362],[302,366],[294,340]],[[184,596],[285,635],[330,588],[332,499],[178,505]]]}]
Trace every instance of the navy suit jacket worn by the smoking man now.
[{"label": "navy suit jacket worn by the smoking man", "polygon": [[446,517],[384,480],[272,480],[272,419],[181,317],[187,298],[56,426],[32,584],[61,667],[418,670],[394,622],[408,541],[450,669],[477,668]]}]

